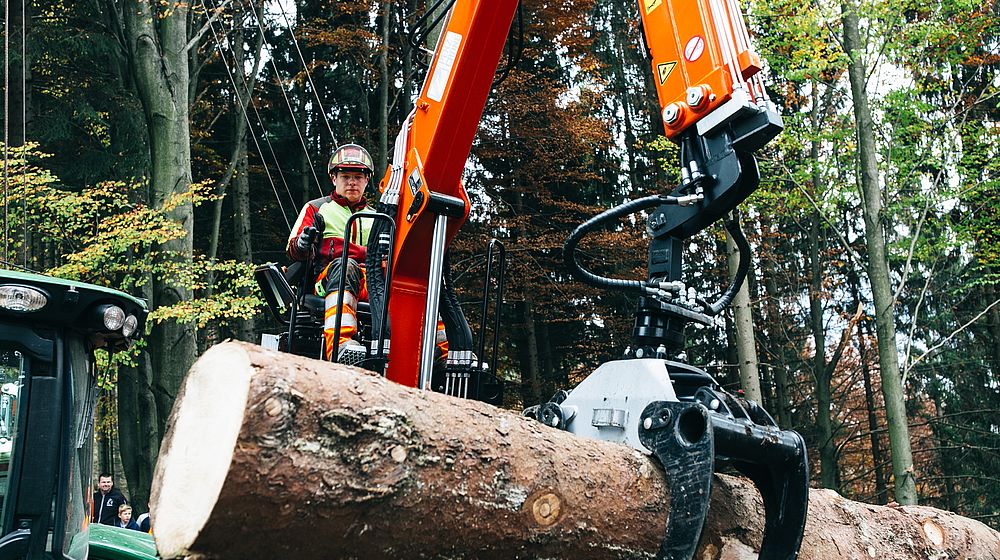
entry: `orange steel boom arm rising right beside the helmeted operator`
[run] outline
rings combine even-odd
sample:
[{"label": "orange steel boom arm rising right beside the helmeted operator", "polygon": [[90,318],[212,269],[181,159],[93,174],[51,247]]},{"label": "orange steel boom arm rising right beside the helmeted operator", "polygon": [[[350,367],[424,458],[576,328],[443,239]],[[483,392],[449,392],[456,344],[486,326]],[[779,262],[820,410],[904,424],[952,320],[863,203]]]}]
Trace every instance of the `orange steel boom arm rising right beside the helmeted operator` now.
[{"label": "orange steel boom arm rising right beside the helmeted operator", "polygon": [[[462,171],[517,1],[456,2],[415,104],[396,218],[396,262],[389,300],[391,338],[386,376],[403,385],[417,386],[420,372],[431,233],[436,218],[427,210],[429,192],[464,200],[468,216],[469,196],[461,182]],[[411,181],[411,177],[419,181]],[[411,214],[418,193],[423,193],[424,202]],[[464,221],[449,220],[446,246]]]}]

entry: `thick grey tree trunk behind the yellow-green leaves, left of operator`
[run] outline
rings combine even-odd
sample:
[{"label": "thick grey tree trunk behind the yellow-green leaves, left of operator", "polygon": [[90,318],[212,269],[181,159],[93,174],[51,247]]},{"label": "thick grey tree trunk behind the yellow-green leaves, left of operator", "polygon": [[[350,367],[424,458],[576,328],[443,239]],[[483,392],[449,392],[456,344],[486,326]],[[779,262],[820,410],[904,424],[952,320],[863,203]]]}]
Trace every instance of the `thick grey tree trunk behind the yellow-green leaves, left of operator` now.
[{"label": "thick grey tree trunk behind the yellow-green leaves, left of operator", "polygon": [[[163,209],[168,199],[191,184],[191,131],[188,121],[187,5],[171,5],[160,13],[149,0],[129,2],[125,29],[132,51],[133,73],[146,116],[150,143],[150,198]],[[193,208],[188,202],[165,211],[186,234],[159,247],[161,258],[188,267],[192,257]],[[191,289],[173,274],[153,275],[152,307],[192,298]],[[166,419],[185,373],[195,359],[192,323],[163,321],[149,337],[157,417]],[[160,434],[166,426],[160,426]]]}]

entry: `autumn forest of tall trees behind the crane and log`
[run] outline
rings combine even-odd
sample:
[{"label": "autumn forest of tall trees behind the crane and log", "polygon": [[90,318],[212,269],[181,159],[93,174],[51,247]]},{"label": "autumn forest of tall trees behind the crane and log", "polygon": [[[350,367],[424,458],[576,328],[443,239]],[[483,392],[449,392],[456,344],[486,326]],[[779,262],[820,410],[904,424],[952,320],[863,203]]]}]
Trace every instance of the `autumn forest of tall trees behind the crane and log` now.
[{"label": "autumn forest of tall trees behind the crane and log", "polygon": [[[742,211],[744,297],[689,330],[688,359],[732,390],[741,371],[759,379],[743,388],[805,436],[814,485],[1000,527],[1000,9],[744,8],[786,128]],[[298,208],[330,189],[332,149],[360,143],[385,168],[425,75],[408,37],[434,9],[5,4],[4,266],[150,302],[146,342],[105,368],[98,422],[98,468],[121,471],[139,511],[196,356],[276,332],[252,270],[284,262]],[[588,217],[677,183],[638,9],[522,0],[522,54],[501,61],[473,146],[452,261],[477,325],[486,245],[508,248],[498,371],[512,408],[629,344],[634,298],[574,281],[561,247]],[[640,217],[591,236],[587,266],[644,277],[644,234]],[[728,253],[721,227],[699,234],[685,280],[720,293]]]}]

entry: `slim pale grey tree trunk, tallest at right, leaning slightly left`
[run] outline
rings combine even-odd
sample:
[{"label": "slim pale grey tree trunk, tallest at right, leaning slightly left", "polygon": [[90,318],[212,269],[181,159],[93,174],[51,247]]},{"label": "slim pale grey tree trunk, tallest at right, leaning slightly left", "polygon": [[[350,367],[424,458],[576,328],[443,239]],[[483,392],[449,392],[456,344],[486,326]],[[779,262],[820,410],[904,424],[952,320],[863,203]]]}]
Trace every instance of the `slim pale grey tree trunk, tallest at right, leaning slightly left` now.
[{"label": "slim pale grey tree trunk, tallest at right, leaning slightly left", "polygon": [[857,8],[849,3],[842,5],[844,23],[844,51],[850,57],[848,75],[851,80],[851,97],[854,101],[854,122],[858,135],[860,157],[861,198],[865,217],[865,245],[868,248],[868,280],[875,302],[875,327],[878,336],[879,374],[882,378],[882,396],[885,398],[885,416],[889,427],[889,450],[892,457],[892,474],[896,501],[903,505],[917,503],[916,476],[913,472],[913,453],[910,450],[910,431],[906,418],[906,395],[899,372],[899,353],[896,349],[896,323],[893,311],[895,302],[889,285],[889,260],[885,248],[886,231],[882,222],[882,192],[878,176],[878,147],[875,144],[875,125],[868,105],[866,86],[867,67],[861,58],[864,45],[858,29]]}]

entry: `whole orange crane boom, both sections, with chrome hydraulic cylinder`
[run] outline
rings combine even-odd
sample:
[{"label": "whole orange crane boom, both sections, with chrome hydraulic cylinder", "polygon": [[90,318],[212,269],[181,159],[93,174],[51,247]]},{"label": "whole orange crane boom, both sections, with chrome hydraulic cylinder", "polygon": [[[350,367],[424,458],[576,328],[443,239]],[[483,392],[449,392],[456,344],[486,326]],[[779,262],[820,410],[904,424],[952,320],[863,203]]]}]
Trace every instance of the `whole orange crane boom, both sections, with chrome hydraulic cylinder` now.
[{"label": "whole orange crane boom, both sections, with chrome hydraulic cylinder", "polygon": [[[398,228],[386,375],[404,385],[426,388],[430,382],[444,253],[469,212],[461,176],[517,4],[452,2],[380,185],[381,209],[395,216]],[[638,0],[638,9],[670,138],[681,142],[692,125],[704,121],[710,130],[765,102],[760,58],[749,46],[735,0]],[[697,159],[698,151],[691,147],[688,157]],[[682,164],[695,180],[704,174],[696,164]],[[707,222],[717,217],[706,216]],[[377,259],[369,270],[372,265]],[[379,289],[374,292],[379,297]]]}]

